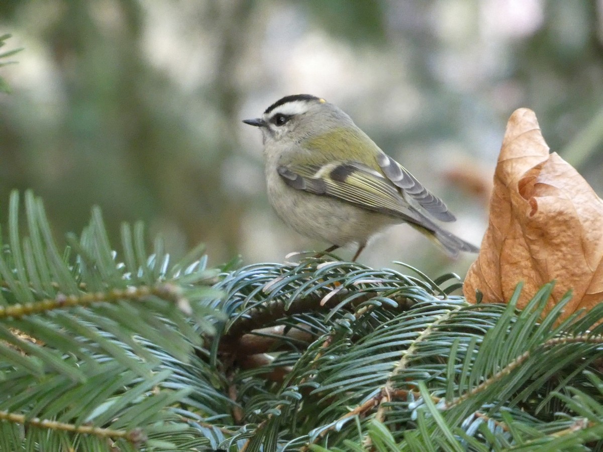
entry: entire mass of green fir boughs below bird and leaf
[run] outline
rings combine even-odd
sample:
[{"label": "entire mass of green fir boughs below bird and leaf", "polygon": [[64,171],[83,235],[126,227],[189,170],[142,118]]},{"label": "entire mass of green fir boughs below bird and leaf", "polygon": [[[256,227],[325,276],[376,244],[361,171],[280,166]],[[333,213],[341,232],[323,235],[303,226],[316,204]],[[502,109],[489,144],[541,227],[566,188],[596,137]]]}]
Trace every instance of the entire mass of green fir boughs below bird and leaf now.
[{"label": "entire mass of green fir boughs below bird and leaf", "polygon": [[98,209],[60,250],[24,207],[0,252],[2,451],[603,448],[603,304],[559,322],[552,283],[518,311],[520,284],[472,306],[400,263],[172,263],[140,224],[110,244]]}]

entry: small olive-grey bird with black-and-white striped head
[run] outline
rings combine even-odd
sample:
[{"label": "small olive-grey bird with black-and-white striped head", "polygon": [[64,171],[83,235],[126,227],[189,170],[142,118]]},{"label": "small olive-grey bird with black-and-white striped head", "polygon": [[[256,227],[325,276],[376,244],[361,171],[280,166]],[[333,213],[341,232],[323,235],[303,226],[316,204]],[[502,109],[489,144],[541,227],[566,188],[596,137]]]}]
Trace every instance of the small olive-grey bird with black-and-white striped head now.
[{"label": "small olive-grey bird with black-and-white striped head", "polygon": [[446,253],[478,248],[443,230],[455,221],[441,199],[386,155],[342,110],[308,94],[286,96],[245,124],[262,130],[268,199],[298,233],[333,246],[358,243],[382,228],[406,222]]}]

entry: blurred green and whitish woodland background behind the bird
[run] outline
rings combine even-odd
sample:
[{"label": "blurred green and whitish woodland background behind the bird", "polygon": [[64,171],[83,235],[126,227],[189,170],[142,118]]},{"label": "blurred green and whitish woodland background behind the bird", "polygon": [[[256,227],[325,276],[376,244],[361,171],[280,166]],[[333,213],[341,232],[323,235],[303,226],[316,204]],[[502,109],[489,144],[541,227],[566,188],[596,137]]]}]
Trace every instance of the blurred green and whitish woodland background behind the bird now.
[{"label": "blurred green and whitish woodland background behind the bird", "polygon": [[[98,204],[119,243],[142,219],[212,265],[322,249],[265,196],[260,133],[241,123],[280,97],[342,107],[458,217],[479,244],[508,117],[535,110],[552,150],[603,192],[602,1],[0,2],[0,216],[33,188],[60,237]],[[342,253],[352,256],[353,250]],[[463,273],[408,226],[361,256]]]}]

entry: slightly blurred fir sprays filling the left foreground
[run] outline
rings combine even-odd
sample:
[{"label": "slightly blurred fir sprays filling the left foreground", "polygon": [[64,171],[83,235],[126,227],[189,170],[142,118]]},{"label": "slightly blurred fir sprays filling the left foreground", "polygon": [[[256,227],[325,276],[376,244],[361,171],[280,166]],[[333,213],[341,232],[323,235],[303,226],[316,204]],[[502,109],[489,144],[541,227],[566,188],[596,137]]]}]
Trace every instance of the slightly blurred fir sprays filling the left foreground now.
[{"label": "slightly blurred fir sprays filling the left foreground", "polygon": [[[98,209],[63,252],[33,193],[27,237],[18,213],[13,192],[0,247],[0,448],[63,441],[101,450],[98,439],[111,438],[127,450],[178,450],[191,434],[182,417],[224,416],[223,376],[192,354],[223,319],[199,248],[172,264],[160,240],[147,254],[143,228],[124,227],[124,265]],[[30,428],[16,436],[17,424]]]}]

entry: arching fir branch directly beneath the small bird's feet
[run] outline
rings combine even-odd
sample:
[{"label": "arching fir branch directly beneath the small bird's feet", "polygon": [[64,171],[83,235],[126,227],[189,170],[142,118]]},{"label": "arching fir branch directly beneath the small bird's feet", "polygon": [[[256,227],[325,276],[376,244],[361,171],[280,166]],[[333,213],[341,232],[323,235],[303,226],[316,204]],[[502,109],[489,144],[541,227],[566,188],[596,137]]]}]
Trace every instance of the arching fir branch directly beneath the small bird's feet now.
[{"label": "arching fir branch directly beneath the small bird's feet", "polygon": [[[233,353],[238,350],[238,339],[243,334],[267,327],[286,316],[334,312],[347,303],[360,306],[380,297],[391,300],[388,304],[391,309],[408,309],[412,301],[399,289],[419,281],[389,269],[385,274],[382,272],[380,278],[374,277],[375,273],[358,263],[304,259],[298,265],[274,268],[250,265],[226,275],[216,287],[225,290],[229,294],[227,298],[241,303],[244,309],[232,316],[225,333],[219,337],[220,350]],[[303,280],[301,285],[300,280]],[[239,287],[253,287],[253,290],[248,294],[238,293]]]}]

